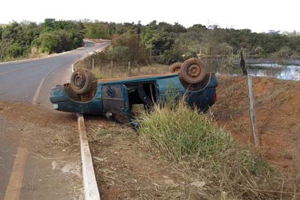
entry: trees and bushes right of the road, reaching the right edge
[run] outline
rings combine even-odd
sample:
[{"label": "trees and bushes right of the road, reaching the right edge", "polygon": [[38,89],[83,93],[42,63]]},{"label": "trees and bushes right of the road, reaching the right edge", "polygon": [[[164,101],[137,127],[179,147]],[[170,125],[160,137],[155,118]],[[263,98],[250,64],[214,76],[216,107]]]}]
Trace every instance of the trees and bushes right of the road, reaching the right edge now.
[{"label": "trees and bushes right of the road, reaching the right edge", "polygon": [[294,33],[280,34],[278,31],[255,33],[250,29],[220,28],[217,25],[206,27],[201,24],[186,28],[178,23],[157,23],[155,20],[146,25],[140,22],[108,23],[88,20],[81,22],[85,27],[85,37],[112,38],[113,49],[108,51],[110,59],[122,60],[122,62],[124,57],[132,61],[132,57],[126,54],[133,49],[128,45],[122,46],[116,38],[122,40],[134,38],[132,39],[134,43],[138,39],[139,46],[144,49],[135,51],[135,55],[141,53],[136,57],[165,64],[182,61],[192,56],[231,56],[232,58],[239,54],[241,47],[246,48],[248,55],[254,58],[296,59],[300,55],[300,36]]}]

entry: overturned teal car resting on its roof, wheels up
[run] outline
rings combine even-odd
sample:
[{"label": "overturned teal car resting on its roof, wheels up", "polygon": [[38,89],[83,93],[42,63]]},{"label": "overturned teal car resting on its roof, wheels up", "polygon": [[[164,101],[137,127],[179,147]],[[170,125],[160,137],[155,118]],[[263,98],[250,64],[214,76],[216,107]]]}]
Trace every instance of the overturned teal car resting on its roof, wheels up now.
[{"label": "overturned teal car resting on its roof, wheels up", "polygon": [[50,101],[56,110],[101,114],[121,123],[130,123],[133,104],[150,108],[163,105],[167,96],[185,95],[187,103],[205,111],[216,100],[217,80],[214,73],[206,73],[204,63],[190,58],[174,63],[170,72],[96,80],[87,69],[75,70],[70,83],[51,89]]}]

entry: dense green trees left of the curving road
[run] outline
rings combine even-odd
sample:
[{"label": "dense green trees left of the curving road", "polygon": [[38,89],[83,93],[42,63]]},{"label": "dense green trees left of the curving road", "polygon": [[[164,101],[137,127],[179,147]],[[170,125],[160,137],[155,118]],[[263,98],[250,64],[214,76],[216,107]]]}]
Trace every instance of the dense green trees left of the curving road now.
[{"label": "dense green trees left of the curving road", "polygon": [[12,22],[0,27],[0,60],[77,48],[83,44],[82,29],[77,22],[50,18],[40,24]]}]

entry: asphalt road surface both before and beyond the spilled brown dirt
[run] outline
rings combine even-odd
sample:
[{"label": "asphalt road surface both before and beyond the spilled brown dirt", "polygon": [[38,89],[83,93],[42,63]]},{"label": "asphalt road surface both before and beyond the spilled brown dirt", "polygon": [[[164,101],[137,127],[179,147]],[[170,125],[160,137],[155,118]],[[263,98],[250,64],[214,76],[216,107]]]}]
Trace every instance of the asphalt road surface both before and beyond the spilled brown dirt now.
[{"label": "asphalt road surface both before and beyond the spilled brown dirt", "polygon": [[[0,63],[0,102],[36,103],[52,108],[49,101],[50,89],[57,84],[69,81],[72,63],[88,52],[98,50],[108,44],[108,41],[100,44],[85,41],[85,46],[72,51],[43,58]],[[74,121],[76,123],[76,120]],[[7,120],[0,114],[0,199],[70,199],[66,195],[67,193],[72,194],[73,190],[80,193],[80,188],[69,189],[67,187],[68,185],[75,187],[71,179],[57,175],[55,170],[51,170],[51,168],[53,169],[53,160],[36,159],[32,155],[28,155],[26,161],[21,159],[16,161],[20,157],[18,153],[22,153],[20,148],[23,148],[22,143],[24,143],[22,142],[24,136],[20,130],[27,128],[23,125],[13,120]],[[35,126],[36,129],[40,128],[38,125]],[[27,135],[31,134],[30,131],[32,133],[32,131],[38,130],[29,128]],[[29,143],[29,146],[24,149],[30,153],[33,148],[30,147],[30,142],[25,143]],[[34,150],[38,150],[36,146]],[[20,167],[22,162],[24,162],[24,166]],[[64,163],[64,160],[59,163]],[[49,167],[48,172],[45,172]],[[23,171],[20,172],[20,169]],[[20,175],[24,178],[19,181],[18,176]],[[20,189],[13,188],[15,186],[10,183],[14,176],[16,180],[13,180],[12,183],[15,185],[20,182],[21,185],[18,186]],[[37,180],[39,182],[33,186],[33,180],[37,177],[39,177]],[[9,185],[12,187],[12,195],[19,196],[19,198],[7,197]],[[80,198],[72,197],[71,199]]]}]

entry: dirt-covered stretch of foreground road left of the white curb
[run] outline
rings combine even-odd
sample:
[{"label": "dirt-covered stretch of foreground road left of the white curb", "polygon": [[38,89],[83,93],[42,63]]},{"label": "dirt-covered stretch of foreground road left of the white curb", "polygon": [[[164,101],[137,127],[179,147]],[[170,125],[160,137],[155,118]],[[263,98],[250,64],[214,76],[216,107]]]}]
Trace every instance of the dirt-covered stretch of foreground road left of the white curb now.
[{"label": "dirt-covered stretch of foreground road left of the white curb", "polygon": [[[10,149],[2,146],[1,158],[13,163],[16,148],[26,146],[22,199],[83,199],[74,114],[32,104],[0,102],[0,126],[1,144]],[[4,192],[11,172],[9,168],[5,171],[7,164],[0,164],[0,173],[7,173],[3,177],[5,184],[0,185]]]}]

